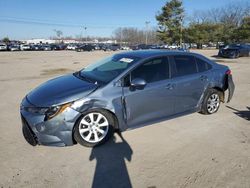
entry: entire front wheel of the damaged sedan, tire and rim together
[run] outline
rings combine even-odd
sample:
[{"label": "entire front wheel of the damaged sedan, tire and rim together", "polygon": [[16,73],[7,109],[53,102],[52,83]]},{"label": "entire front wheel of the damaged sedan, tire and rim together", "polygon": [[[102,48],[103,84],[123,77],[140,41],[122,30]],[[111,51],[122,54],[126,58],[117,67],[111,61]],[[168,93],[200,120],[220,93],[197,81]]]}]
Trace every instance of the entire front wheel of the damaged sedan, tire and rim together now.
[{"label": "entire front wheel of the damaged sedan, tire and rim together", "polygon": [[113,134],[113,117],[106,111],[91,111],[82,116],[74,130],[75,140],[88,147],[107,141]]}]

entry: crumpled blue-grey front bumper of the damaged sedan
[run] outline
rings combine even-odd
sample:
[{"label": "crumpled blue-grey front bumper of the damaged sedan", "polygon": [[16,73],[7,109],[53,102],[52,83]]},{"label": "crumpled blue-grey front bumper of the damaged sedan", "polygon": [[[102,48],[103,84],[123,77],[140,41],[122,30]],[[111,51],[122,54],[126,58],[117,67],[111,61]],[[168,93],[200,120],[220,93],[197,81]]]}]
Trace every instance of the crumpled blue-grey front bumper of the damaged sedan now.
[{"label": "crumpled blue-grey front bumper of the damaged sedan", "polygon": [[45,115],[31,113],[25,107],[32,106],[24,98],[21,103],[21,119],[23,135],[26,141],[35,146],[37,144],[46,146],[70,146],[74,144],[72,132],[75,122],[80,113],[68,107],[61,114],[50,120]]}]

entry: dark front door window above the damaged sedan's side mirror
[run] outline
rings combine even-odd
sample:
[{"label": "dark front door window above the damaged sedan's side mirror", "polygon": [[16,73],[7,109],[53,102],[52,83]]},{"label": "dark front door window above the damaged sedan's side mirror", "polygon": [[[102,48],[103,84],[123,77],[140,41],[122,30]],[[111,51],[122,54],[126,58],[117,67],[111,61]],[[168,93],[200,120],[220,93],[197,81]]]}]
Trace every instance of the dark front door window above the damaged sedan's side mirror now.
[{"label": "dark front door window above the damaged sedan's side mirror", "polygon": [[137,67],[131,72],[131,80],[142,78],[152,83],[169,78],[169,64],[167,58],[156,58]]}]

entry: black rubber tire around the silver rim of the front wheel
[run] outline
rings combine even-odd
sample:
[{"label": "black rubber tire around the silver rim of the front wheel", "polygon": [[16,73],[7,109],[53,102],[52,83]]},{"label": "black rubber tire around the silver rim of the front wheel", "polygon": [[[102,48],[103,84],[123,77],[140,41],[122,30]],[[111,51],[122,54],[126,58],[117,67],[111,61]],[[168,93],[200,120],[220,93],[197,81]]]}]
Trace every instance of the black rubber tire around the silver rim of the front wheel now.
[{"label": "black rubber tire around the silver rim of the front wheel", "polygon": [[[86,117],[86,115],[88,115],[90,113],[100,113],[108,121],[108,132],[106,133],[105,137],[102,140],[98,141],[98,142],[88,142],[88,141],[84,140],[84,138],[81,136],[81,134],[79,132],[79,126],[81,126],[81,124],[80,124],[81,120],[84,117]],[[77,121],[77,123],[76,123],[76,125],[74,127],[74,130],[73,130],[74,139],[75,139],[75,141],[77,143],[81,144],[82,146],[86,146],[86,147],[99,146],[99,145],[104,144],[105,142],[107,142],[109,140],[109,138],[113,136],[115,123],[116,122],[115,122],[115,119],[114,119],[113,115],[111,113],[109,113],[108,111],[101,110],[101,109],[89,110],[89,111],[83,113],[81,118]]]}]

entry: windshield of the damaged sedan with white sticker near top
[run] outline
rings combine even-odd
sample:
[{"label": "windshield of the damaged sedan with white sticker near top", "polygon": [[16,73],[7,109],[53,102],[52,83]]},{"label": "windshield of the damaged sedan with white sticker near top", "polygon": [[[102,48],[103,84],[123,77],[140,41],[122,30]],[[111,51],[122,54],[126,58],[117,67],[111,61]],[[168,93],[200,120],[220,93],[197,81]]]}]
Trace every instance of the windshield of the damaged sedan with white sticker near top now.
[{"label": "windshield of the damaged sedan with white sticker near top", "polygon": [[108,83],[138,60],[138,57],[117,54],[87,66],[80,71],[79,76],[95,82]]}]

